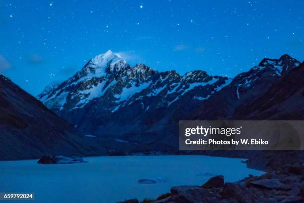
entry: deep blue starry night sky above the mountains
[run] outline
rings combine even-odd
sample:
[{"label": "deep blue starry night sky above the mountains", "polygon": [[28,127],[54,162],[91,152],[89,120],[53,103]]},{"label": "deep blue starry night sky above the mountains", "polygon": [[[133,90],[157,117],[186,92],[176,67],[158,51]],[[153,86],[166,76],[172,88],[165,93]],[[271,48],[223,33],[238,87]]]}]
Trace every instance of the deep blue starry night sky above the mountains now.
[{"label": "deep blue starry night sky above the mountains", "polygon": [[304,0],[0,0],[0,73],[30,94],[111,49],[131,65],[233,77],[304,60]]}]

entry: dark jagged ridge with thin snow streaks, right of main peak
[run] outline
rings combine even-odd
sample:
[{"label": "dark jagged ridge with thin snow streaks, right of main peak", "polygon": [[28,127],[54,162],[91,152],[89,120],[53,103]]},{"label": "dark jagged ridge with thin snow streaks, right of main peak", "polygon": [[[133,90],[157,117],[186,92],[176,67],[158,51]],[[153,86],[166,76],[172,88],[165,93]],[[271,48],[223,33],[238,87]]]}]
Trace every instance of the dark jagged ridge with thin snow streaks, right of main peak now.
[{"label": "dark jagged ridge with thin snow streaks, right of main peak", "polygon": [[[237,109],[245,110],[249,103],[263,96],[274,83],[299,65],[300,62],[289,55],[283,55],[280,59],[265,58],[258,66],[238,74],[230,85],[202,102],[198,109],[190,113],[189,119],[232,119]],[[238,119],[244,117],[239,116]]]}]

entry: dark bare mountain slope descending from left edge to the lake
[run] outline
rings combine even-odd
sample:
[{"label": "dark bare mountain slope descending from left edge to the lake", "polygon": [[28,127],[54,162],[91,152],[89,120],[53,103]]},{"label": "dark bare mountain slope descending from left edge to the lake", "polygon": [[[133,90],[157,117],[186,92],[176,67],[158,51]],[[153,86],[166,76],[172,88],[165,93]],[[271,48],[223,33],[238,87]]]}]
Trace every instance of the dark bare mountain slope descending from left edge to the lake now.
[{"label": "dark bare mountain slope descending from left edge to the lake", "polygon": [[84,148],[80,143],[88,144],[73,126],[0,75],[0,160],[102,151],[94,146]]}]

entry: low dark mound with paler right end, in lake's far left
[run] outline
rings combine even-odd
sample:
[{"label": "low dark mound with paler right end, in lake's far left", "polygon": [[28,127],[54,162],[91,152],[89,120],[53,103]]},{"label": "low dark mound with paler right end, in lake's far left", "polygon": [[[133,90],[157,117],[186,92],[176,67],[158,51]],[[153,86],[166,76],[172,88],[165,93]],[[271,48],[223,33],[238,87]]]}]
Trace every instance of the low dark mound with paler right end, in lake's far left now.
[{"label": "low dark mound with paler right end, in lake's far left", "polygon": [[42,156],[38,164],[76,164],[87,163],[81,157],[65,157],[65,156]]}]

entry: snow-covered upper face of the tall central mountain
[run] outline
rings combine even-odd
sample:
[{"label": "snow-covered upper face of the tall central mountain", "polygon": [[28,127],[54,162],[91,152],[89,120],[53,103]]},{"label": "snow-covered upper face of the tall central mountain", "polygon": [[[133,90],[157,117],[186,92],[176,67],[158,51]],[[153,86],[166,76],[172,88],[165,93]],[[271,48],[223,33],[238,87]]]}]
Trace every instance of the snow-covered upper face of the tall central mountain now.
[{"label": "snow-covered upper face of the tall central mountain", "polygon": [[77,110],[98,100],[103,100],[103,105],[98,107],[114,112],[162,92],[157,107],[169,106],[188,92],[203,87],[209,91],[203,95],[207,98],[226,85],[228,78],[208,76],[204,71],[191,71],[181,77],[175,71],[157,72],[144,64],[131,67],[109,50],[89,60],[67,81],[46,88],[38,98],[55,112]]}]

